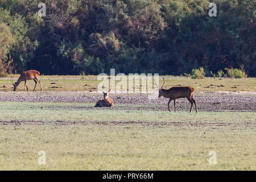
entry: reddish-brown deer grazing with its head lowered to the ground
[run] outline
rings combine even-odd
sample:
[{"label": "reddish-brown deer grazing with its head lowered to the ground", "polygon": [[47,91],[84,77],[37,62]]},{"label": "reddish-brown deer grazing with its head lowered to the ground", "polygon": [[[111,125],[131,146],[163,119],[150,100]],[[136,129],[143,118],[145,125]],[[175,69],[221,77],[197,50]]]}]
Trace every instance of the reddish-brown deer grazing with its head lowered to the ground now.
[{"label": "reddish-brown deer grazing with its head lowered to the ground", "polygon": [[[36,71],[36,70],[28,70],[26,72],[22,72],[21,75],[19,76],[18,81],[15,83],[12,82],[12,84],[14,86],[13,91],[16,90],[17,86],[19,86],[20,82],[22,82],[22,81],[25,81],[24,90],[23,90],[23,91],[25,91],[25,88],[27,87],[27,80],[32,80],[32,79],[35,81],[35,87],[36,87],[36,84],[39,82],[41,91],[42,91],[41,81],[39,80],[39,77],[38,77],[39,75],[40,75],[40,72]],[[34,90],[35,90],[35,87],[34,87]],[[28,91],[28,88],[27,88],[27,91]]]}]

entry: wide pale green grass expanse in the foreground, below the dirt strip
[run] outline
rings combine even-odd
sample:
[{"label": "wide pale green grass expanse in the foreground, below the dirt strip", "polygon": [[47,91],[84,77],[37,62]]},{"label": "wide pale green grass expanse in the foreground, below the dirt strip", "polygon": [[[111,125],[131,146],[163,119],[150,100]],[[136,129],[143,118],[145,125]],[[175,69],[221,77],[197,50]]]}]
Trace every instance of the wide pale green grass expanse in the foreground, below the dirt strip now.
[{"label": "wide pale green grass expanse in the foreground, below the dirt strip", "polygon": [[[256,169],[255,112],[93,106],[1,102],[0,169]],[[39,151],[46,152],[46,165],[38,164]],[[216,151],[216,165],[209,165],[209,151]]]}]

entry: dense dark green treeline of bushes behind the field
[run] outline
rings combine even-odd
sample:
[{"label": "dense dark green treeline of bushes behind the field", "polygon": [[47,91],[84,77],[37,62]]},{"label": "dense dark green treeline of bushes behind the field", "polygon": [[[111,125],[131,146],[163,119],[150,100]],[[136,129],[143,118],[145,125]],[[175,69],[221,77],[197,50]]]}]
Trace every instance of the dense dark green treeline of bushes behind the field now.
[{"label": "dense dark green treeline of bushes behind the field", "polygon": [[[38,4],[46,3],[46,17]],[[159,73],[244,65],[256,76],[256,0],[2,0],[0,72]]]}]

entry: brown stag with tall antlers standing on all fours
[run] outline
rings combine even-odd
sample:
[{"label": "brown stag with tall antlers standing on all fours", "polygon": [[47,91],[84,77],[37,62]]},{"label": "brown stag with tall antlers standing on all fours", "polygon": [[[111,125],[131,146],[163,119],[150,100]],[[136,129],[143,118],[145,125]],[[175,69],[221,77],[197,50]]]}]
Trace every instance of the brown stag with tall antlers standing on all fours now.
[{"label": "brown stag with tall antlers standing on all fours", "polygon": [[[164,78],[163,78],[164,80]],[[158,86],[156,84],[155,81],[155,85]],[[195,104],[196,106],[196,101],[194,99],[194,93],[195,93],[195,89],[191,86],[174,86],[170,89],[163,89],[164,86],[164,82],[163,85],[161,86],[161,88],[159,88],[159,95],[158,97],[160,98],[161,96],[166,97],[166,98],[170,98],[170,100],[168,101],[168,110],[170,110],[170,102],[172,100],[174,100],[174,109],[176,112],[176,99],[177,98],[187,98],[187,100],[191,103],[191,108],[190,108],[190,112],[192,111],[192,106],[193,104]],[[196,113],[197,113],[197,106],[196,106]]]}]

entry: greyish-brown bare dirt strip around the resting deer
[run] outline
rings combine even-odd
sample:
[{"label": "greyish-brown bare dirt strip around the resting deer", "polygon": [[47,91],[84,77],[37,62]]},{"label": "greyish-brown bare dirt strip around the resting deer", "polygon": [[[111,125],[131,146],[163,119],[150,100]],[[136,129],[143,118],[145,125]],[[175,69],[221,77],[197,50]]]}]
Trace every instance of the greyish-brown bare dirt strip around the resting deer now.
[{"label": "greyish-brown bare dirt strip around the resting deer", "polygon": [[[149,100],[146,94],[110,94],[114,100],[113,110],[167,110],[168,98]],[[0,101],[11,102],[93,102],[102,98],[102,94],[89,92],[1,92]],[[256,94],[239,93],[197,93],[195,96],[199,110],[203,111],[256,111]],[[174,101],[171,102],[174,110]],[[53,108],[54,107],[54,108]],[[66,109],[93,109],[92,106],[51,106],[49,109],[66,107]],[[189,110],[186,98],[177,99],[177,110]],[[193,107],[195,109],[195,106]]]}]

